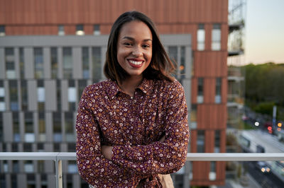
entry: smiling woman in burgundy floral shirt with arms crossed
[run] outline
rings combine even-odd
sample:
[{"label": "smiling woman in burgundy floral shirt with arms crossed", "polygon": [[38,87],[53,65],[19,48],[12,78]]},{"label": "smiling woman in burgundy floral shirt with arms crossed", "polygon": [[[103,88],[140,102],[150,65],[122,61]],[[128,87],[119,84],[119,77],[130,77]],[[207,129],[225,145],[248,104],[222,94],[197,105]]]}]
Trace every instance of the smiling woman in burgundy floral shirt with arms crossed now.
[{"label": "smiling woman in burgundy floral shirt with arms crossed", "polygon": [[78,107],[77,165],[93,187],[162,187],[187,155],[187,105],[150,18],[123,13],[111,28],[104,74]]}]

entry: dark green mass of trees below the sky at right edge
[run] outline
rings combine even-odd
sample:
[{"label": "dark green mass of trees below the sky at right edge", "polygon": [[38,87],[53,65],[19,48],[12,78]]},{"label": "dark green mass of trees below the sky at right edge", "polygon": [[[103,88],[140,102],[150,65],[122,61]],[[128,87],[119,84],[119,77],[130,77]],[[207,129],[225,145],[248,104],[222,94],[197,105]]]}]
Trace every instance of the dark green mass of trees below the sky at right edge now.
[{"label": "dark green mass of trees below the sky at right edge", "polygon": [[284,64],[248,64],[246,73],[246,105],[262,114],[272,115],[273,105],[284,107]]}]

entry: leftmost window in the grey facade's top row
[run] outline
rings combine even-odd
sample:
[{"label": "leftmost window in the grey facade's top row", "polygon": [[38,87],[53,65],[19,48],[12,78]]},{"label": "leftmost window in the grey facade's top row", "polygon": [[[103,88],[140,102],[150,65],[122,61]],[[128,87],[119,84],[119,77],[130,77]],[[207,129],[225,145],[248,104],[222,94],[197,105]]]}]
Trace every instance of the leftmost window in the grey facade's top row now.
[{"label": "leftmost window in the grey facade's top row", "polygon": [[16,78],[15,56],[13,48],[11,47],[5,48],[5,64],[6,64],[6,78],[15,79]]}]

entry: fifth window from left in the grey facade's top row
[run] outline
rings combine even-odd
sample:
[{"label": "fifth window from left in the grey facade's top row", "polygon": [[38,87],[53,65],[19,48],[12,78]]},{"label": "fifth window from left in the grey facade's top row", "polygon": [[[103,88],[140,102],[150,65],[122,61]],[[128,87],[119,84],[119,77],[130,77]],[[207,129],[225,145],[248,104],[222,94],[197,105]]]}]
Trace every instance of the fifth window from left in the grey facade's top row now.
[{"label": "fifth window from left in the grey facade's top row", "polygon": [[72,48],[63,47],[63,78],[72,78]]}]

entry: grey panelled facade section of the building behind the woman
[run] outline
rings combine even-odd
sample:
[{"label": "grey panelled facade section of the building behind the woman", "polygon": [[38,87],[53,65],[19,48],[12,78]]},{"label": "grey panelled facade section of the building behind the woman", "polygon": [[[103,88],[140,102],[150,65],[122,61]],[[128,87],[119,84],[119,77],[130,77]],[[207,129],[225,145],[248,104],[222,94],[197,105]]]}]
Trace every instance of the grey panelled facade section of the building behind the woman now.
[{"label": "grey panelled facade section of the building behind the woman", "polygon": [[[78,101],[85,86],[104,80],[107,39],[0,37],[0,152],[75,152]],[[191,36],[161,40],[178,64],[190,110]],[[85,187],[75,161],[64,161],[63,173],[64,187]],[[1,161],[0,187],[55,187],[53,162]]]}]

